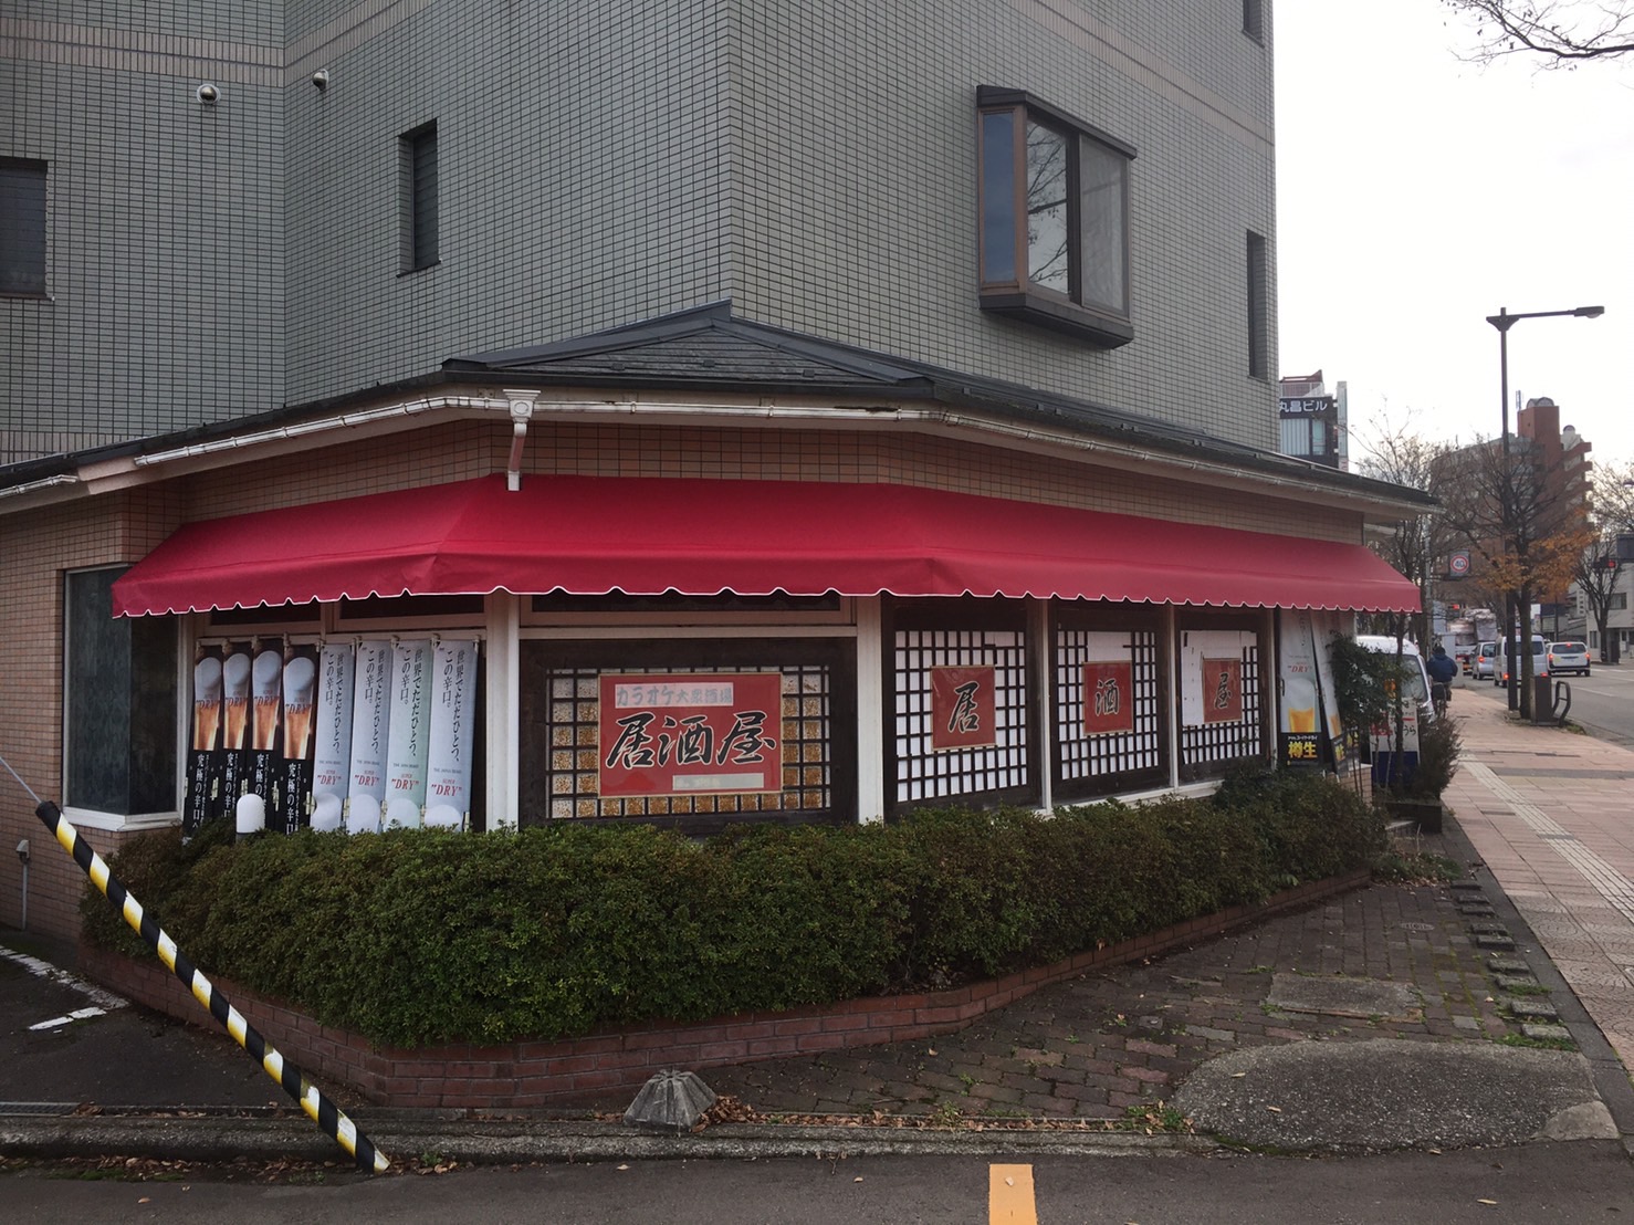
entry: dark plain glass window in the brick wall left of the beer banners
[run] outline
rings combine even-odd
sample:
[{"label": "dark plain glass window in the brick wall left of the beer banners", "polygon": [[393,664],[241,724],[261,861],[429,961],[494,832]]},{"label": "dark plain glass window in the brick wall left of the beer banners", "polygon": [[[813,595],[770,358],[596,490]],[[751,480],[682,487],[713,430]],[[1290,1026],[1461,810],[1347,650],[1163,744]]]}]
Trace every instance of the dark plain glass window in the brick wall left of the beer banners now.
[{"label": "dark plain glass window in the brick wall left of the beer banners", "polygon": [[114,617],[124,567],[64,580],[64,802],[129,817],[176,807],[176,627]]}]

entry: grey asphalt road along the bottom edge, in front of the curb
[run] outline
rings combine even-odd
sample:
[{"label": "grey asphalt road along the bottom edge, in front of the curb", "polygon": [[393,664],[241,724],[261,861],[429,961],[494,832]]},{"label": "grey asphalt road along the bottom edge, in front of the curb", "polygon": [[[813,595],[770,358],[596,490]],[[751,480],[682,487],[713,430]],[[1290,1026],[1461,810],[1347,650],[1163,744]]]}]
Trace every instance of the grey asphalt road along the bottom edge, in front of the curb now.
[{"label": "grey asphalt road along the bottom edge, in front of the curb", "polygon": [[[1025,1161],[1025,1158],[1021,1158]],[[315,1174],[278,1184],[0,1178],[0,1218],[240,1223],[394,1220],[840,1225],[845,1222],[1141,1222],[1266,1225],[1404,1220],[1623,1220],[1634,1178],[1616,1142],[1523,1145],[1369,1158],[1092,1156],[1002,1168],[975,1156],[773,1161],[608,1161],[443,1176]],[[1005,1179],[1011,1179],[1005,1186]],[[1016,1204],[1016,1189],[1033,1194]],[[993,1196],[1008,1194],[998,1205]],[[1003,1212],[997,1209],[1003,1209]],[[1036,1215],[1028,1215],[1031,1209]]]}]

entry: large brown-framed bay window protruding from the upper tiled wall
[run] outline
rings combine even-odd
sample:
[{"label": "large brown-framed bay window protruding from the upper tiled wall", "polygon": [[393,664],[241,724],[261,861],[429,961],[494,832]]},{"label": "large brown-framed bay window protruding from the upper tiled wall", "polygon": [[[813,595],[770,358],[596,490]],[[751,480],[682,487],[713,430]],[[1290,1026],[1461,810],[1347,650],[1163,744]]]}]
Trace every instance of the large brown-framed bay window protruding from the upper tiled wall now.
[{"label": "large brown-framed bay window protruding from the upper tiled wall", "polygon": [[1126,345],[1136,150],[1021,90],[977,105],[982,309]]}]

